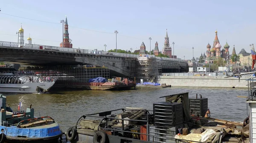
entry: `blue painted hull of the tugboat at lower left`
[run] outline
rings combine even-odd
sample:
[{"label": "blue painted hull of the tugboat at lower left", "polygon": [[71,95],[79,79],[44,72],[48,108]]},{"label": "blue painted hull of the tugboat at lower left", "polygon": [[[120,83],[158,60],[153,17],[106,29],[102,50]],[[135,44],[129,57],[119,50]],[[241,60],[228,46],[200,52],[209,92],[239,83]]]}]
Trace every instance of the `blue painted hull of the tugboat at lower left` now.
[{"label": "blue painted hull of the tugboat at lower left", "polygon": [[57,140],[62,136],[62,131],[58,123],[31,128],[17,128],[16,126],[0,126],[0,130],[4,130],[6,141],[47,141]]}]

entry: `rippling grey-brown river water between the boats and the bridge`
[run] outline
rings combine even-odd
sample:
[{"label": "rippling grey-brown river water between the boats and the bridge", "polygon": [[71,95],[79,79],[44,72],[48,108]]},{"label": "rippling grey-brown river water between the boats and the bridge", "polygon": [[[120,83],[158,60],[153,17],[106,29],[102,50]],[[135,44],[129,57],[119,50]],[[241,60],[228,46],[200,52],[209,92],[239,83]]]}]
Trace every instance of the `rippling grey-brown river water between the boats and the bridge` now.
[{"label": "rippling grey-brown river water between the boats and the bridge", "polygon": [[208,98],[208,108],[211,118],[231,121],[244,121],[247,117],[246,98],[247,89],[236,88],[196,88],[196,87],[138,87],[128,91],[51,91],[48,94],[5,94],[7,103],[16,111],[23,98],[23,109],[32,104],[35,116],[50,116],[57,121],[63,132],[69,126],[74,126],[81,115],[102,112],[125,107],[144,107],[153,109],[153,103],[165,101],[161,96],[174,93],[191,92]]}]

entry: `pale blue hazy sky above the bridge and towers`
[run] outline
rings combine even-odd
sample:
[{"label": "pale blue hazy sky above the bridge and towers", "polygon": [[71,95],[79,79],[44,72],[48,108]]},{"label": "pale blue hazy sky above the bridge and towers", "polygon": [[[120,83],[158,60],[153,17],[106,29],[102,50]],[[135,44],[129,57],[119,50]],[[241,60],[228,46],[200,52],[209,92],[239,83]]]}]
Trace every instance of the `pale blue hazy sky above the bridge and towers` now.
[{"label": "pale blue hazy sky above the bridge and towers", "polygon": [[[215,30],[222,47],[232,53],[256,43],[255,0],[1,0],[0,41],[17,42],[16,32],[32,43],[59,46],[67,16],[73,48],[107,50],[154,49],[161,51],[166,29],[177,58],[192,59],[212,46]],[[173,52],[173,51],[172,51]]]}]

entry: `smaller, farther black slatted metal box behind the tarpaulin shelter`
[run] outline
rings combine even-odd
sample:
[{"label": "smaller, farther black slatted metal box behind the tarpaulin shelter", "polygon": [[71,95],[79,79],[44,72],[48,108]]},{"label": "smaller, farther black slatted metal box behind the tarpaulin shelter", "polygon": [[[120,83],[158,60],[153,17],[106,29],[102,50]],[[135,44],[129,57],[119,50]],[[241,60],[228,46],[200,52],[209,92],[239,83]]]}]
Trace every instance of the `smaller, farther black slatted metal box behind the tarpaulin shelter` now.
[{"label": "smaller, farther black slatted metal box behind the tarpaulin shelter", "polygon": [[208,98],[189,98],[191,115],[204,117],[208,109]]}]

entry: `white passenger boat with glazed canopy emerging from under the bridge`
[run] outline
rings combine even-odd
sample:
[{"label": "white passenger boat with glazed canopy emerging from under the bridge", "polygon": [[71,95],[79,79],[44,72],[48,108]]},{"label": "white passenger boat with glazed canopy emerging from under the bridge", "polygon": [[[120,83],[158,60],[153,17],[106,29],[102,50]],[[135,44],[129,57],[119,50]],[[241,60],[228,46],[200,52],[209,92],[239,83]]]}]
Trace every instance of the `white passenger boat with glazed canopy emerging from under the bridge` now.
[{"label": "white passenger boat with glazed canopy emerging from under the bridge", "polygon": [[0,93],[46,93],[55,81],[32,72],[4,72],[0,73]]}]

